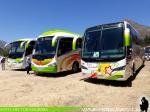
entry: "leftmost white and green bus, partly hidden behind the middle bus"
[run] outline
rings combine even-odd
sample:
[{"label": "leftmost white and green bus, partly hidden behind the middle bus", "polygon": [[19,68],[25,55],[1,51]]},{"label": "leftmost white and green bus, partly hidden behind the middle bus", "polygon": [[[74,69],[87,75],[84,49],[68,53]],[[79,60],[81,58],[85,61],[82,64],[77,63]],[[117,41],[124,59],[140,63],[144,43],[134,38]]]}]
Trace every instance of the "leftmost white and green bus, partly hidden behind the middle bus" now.
[{"label": "leftmost white and green bus, partly hidden behind the middle bus", "polygon": [[27,57],[32,56],[32,51],[35,45],[35,39],[20,39],[13,41],[6,46],[9,46],[9,55],[7,66],[11,69],[25,69]]}]

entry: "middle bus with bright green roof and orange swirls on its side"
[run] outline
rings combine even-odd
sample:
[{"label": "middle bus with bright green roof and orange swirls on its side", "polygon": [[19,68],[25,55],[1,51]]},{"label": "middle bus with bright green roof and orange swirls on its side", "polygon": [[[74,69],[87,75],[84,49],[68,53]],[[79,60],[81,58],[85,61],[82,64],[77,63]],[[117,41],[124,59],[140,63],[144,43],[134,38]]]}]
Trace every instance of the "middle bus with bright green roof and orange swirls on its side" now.
[{"label": "middle bus with bright green roof and orange swirls on its side", "polygon": [[[77,49],[73,50],[75,47]],[[32,70],[35,73],[77,72],[80,69],[80,51],[80,35],[64,30],[44,32],[36,40]]]}]

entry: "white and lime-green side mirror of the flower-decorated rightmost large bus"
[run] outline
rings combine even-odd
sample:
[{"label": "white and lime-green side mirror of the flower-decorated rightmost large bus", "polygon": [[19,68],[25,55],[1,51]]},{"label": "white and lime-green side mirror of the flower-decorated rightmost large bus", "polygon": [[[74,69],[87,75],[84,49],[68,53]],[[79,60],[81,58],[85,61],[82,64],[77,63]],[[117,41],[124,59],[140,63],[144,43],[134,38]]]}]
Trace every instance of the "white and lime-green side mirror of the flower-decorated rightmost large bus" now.
[{"label": "white and lime-green side mirror of the flower-decorated rightmost large bus", "polygon": [[126,28],[124,32],[124,44],[125,46],[130,46],[130,29]]}]

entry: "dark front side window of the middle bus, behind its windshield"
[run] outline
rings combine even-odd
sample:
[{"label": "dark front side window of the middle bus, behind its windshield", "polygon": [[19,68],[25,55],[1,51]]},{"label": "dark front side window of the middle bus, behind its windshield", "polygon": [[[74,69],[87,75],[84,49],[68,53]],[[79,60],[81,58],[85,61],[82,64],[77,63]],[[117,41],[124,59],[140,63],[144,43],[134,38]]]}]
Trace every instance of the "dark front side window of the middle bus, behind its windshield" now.
[{"label": "dark front side window of the middle bus, behind its windshield", "polygon": [[73,38],[61,38],[58,46],[58,56],[64,55],[72,51]]}]

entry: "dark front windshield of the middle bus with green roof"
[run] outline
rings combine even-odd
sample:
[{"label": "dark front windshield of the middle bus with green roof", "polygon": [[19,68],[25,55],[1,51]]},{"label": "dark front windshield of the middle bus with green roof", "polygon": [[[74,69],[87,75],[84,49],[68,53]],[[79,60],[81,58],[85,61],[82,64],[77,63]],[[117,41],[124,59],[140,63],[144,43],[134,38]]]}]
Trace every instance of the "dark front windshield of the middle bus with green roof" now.
[{"label": "dark front windshield of the middle bus with green roof", "polygon": [[33,55],[47,55],[54,56],[56,53],[56,47],[52,46],[52,36],[39,38],[35,45],[35,51]]}]

